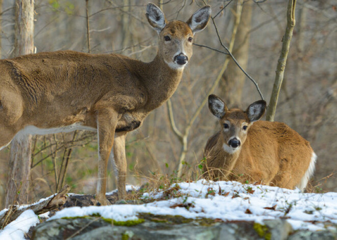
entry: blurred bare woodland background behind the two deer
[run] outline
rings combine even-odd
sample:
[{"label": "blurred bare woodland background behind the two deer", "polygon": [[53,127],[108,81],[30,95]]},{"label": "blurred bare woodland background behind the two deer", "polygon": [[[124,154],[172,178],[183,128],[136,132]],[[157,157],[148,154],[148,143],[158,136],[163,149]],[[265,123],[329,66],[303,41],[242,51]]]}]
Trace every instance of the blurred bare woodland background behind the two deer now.
[{"label": "blurred bare woodland background behind the two deer", "polygon": [[[196,35],[195,43],[207,47],[194,46],[194,56],[171,101],[153,111],[143,126],[127,137],[127,181],[131,184],[141,184],[159,173],[176,178],[179,161],[183,164],[182,180],[199,177],[203,148],[219,128],[207,104],[203,104],[212,87],[215,89],[211,93],[229,106],[246,109],[260,99],[253,83],[224,54],[220,39],[258,83],[267,102],[270,99],[286,25],[286,1],[205,2],[212,7],[214,22],[210,20],[207,28]],[[147,3],[36,0],[36,52],[90,50],[152,61],[158,39],[145,18]],[[185,21],[205,4],[199,0],[154,3],[161,6],[168,20]],[[13,57],[14,50],[14,0],[0,0],[0,8],[0,51],[1,58],[7,59]],[[275,116],[275,121],[287,123],[310,141],[318,155],[309,188],[315,192],[337,191],[333,174],[337,171],[336,8],[333,0],[297,2],[296,26]],[[220,82],[214,85],[217,78]],[[94,193],[98,159],[95,133],[33,136],[32,149],[29,202],[57,192],[65,183],[72,192]],[[9,147],[0,151],[0,209],[4,207],[8,158]],[[110,170],[109,176],[108,191],[115,189]]]}]

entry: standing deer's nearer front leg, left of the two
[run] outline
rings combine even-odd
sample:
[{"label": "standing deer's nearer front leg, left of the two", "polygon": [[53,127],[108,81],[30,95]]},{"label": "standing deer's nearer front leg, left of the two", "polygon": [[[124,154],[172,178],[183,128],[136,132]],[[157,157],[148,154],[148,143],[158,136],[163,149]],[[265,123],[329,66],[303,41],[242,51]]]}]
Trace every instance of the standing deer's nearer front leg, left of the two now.
[{"label": "standing deer's nearer front leg, left of the two", "polygon": [[98,180],[96,189],[96,204],[107,205],[105,197],[107,167],[109,155],[113,146],[117,113],[112,109],[99,110],[97,115],[97,131],[99,143]]}]

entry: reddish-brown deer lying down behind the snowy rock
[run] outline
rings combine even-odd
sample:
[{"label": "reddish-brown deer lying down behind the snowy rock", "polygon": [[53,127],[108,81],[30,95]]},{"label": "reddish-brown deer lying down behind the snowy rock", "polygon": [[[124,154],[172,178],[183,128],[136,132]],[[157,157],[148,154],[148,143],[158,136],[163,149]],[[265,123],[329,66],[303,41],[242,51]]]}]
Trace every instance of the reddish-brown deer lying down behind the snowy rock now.
[{"label": "reddish-brown deer lying down behind the snowy rock", "polygon": [[208,96],[208,108],[220,129],[205,146],[205,178],[304,191],[317,156],[310,143],[285,123],[260,120],[266,105],[258,100],[246,111],[228,109],[220,97]]}]

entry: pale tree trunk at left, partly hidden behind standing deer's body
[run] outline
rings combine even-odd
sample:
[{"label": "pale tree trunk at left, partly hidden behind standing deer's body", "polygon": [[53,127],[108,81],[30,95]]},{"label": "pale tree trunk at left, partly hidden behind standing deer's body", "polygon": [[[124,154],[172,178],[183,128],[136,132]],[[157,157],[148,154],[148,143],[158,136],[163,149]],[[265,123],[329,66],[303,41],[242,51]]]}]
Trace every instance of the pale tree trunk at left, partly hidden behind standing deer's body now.
[{"label": "pale tree trunk at left, partly hidden behind standing deer's body", "polygon": [[[15,1],[15,56],[34,52],[34,1]],[[11,143],[6,207],[28,201],[32,136],[16,136]]]}]

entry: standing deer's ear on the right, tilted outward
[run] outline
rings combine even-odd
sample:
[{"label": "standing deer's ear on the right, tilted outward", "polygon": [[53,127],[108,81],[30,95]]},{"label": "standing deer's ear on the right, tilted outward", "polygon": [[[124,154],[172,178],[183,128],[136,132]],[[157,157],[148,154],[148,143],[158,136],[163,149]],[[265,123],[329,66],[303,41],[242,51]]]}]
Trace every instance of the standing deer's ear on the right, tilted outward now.
[{"label": "standing deer's ear on the right, tilted outward", "polygon": [[212,10],[209,5],[206,5],[205,7],[199,9],[197,12],[195,12],[188,20],[187,24],[191,28],[193,34],[198,33],[204,28],[206,28],[206,25],[209,21],[210,15],[212,13]]}]

